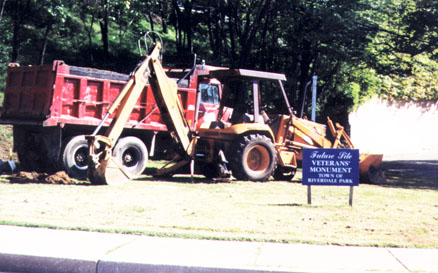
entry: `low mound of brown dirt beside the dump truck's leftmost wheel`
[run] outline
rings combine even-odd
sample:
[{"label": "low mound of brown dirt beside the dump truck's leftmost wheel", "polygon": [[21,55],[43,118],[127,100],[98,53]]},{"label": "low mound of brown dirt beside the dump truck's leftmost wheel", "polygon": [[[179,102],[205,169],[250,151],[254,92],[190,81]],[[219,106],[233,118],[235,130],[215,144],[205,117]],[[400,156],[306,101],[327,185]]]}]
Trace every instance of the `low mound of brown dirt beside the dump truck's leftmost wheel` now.
[{"label": "low mound of brown dirt beside the dump truck's leftmost wheel", "polygon": [[54,174],[37,172],[18,172],[12,175],[11,183],[45,183],[45,184],[72,184],[72,180],[65,171]]}]

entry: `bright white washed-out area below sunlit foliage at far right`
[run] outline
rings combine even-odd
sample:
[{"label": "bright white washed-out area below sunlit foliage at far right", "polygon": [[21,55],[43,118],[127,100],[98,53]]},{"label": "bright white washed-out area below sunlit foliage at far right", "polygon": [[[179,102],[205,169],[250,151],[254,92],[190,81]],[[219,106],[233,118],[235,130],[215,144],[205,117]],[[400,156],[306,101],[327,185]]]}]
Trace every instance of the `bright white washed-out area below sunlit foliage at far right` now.
[{"label": "bright white washed-out area below sunlit foliage at far right", "polygon": [[361,152],[384,158],[438,157],[438,102],[373,98],[349,115],[351,139]]}]

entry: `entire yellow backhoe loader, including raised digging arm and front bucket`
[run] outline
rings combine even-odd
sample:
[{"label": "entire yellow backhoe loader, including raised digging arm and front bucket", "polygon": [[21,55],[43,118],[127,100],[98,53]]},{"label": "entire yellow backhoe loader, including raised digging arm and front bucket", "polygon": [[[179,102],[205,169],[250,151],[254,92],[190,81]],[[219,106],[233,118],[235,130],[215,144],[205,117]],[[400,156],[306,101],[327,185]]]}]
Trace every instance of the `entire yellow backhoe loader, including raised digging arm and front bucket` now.
[{"label": "entire yellow backhoe loader, including raised digging arm and front bucket", "polygon": [[[271,176],[291,179],[302,160],[303,148],[353,148],[339,124],[335,126],[330,120],[328,122],[335,139],[332,142],[325,136],[325,125],[294,115],[282,84],[286,80],[285,75],[245,69],[216,70],[205,75],[223,83],[223,99],[216,121],[191,132],[177,96],[177,86],[161,66],[160,50],[161,44],[156,43],[108,109],[101,124],[108,116],[114,114],[114,117],[105,135],[97,134],[101,127],[98,126],[87,137],[88,177],[92,183],[123,184],[132,178],[112,156],[112,148],[146,84],[151,85],[162,118],[178,146],[175,164],[157,170],[158,176],[174,174],[182,166],[195,162],[208,178],[228,178],[232,175],[239,180],[250,181],[266,181]],[[261,111],[262,81],[278,82],[288,114],[268,115]],[[234,109],[233,113],[229,121],[224,121],[222,113],[225,107],[230,106]],[[195,115],[198,111],[196,109]],[[374,177],[369,176],[369,170],[378,170],[381,160],[382,155],[361,155],[363,177],[372,180]]]}]

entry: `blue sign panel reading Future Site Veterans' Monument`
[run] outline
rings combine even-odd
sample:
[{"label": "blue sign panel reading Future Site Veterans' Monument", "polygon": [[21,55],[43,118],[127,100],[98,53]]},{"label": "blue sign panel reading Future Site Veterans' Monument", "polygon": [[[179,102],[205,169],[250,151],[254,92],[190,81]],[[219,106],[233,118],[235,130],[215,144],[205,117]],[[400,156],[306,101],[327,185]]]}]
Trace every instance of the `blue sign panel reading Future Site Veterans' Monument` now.
[{"label": "blue sign panel reading Future Site Veterans' Monument", "polygon": [[358,186],[359,150],[303,149],[303,185]]}]

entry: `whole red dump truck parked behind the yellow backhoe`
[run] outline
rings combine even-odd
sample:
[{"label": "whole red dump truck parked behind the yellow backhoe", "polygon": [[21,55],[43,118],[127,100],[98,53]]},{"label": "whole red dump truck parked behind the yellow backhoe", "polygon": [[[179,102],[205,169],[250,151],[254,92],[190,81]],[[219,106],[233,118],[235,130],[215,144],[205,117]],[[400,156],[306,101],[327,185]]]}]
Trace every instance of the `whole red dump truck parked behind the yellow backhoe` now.
[{"label": "whole red dump truck parked behind the yellow backhoe", "polygon": [[[221,68],[195,65],[166,69],[168,77],[178,83],[178,96],[192,130],[204,120],[216,119],[221,84],[204,75],[217,69]],[[64,169],[72,177],[85,178],[85,135],[93,132],[128,79],[125,74],[63,61],[41,66],[9,64],[0,124],[13,126],[14,151],[21,168],[45,172]],[[197,98],[199,118],[195,119]],[[105,125],[110,122],[111,118]],[[125,125],[115,155],[134,173],[141,173],[149,157],[160,158],[170,152],[170,141],[147,86]]]}]

